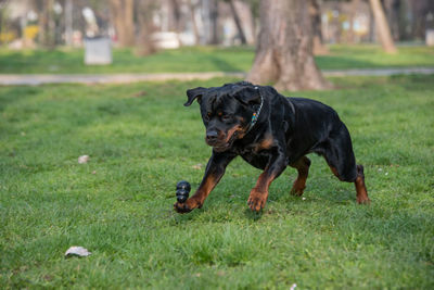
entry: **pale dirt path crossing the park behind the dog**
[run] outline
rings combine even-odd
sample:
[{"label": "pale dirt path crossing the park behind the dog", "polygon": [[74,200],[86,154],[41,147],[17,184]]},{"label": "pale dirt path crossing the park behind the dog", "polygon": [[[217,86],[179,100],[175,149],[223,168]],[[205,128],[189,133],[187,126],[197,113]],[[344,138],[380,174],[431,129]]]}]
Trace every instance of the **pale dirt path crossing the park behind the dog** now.
[{"label": "pale dirt path crossing the park behind the dog", "polygon": [[[374,70],[324,70],[326,76],[391,76],[410,74],[434,74],[434,67],[406,67],[406,68],[374,68]],[[22,75],[22,74],[0,74],[0,85],[30,85],[42,84],[128,84],[145,80],[191,80],[209,79],[214,77],[235,77],[245,78],[245,73],[162,73],[162,74],[74,74],[74,75]]]}]

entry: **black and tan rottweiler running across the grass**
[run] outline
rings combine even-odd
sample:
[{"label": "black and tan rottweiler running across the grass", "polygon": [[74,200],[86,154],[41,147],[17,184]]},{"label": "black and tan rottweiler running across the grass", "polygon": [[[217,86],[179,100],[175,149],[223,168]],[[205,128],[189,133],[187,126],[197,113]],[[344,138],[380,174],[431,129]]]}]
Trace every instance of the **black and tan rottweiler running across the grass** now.
[{"label": "black and tan rottweiler running across the grass", "polygon": [[206,127],[205,141],[213,147],[205,176],[184,203],[175,203],[178,213],[201,207],[225,174],[226,166],[241,155],[264,169],[248,198],[252,211],[260,211],[268,188],[288,165],[298,171],[291,193],[302,196],[309,172],[306,154],[324,156],[333,174],[354,182],[358,203],[369,203],[363,166],[357,165],[349,133],[330,106],[303,98],[285,98],[272,87],[247,81],[187,91],[186,106],[196,99]]}]

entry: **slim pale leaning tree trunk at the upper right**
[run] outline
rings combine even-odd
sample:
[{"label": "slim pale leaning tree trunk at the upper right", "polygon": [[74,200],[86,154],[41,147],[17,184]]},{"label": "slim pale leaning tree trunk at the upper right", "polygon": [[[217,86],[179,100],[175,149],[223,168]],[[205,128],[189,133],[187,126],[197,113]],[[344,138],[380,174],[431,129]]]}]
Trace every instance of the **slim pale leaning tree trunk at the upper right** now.
[{"label": "slim pale leaning tree trunk at the upper right", "polygon": [[381,46],[386,53],[396,53],[395,43],[392,39],[391,29],[388,28],[388,24],[386,17],[384,15],[383,7],[380,3],[380,0],[369,0],[371,3],[371,9],[373,13],[373,17],[375,20],[375,26],[378,36],[380,38]]}]

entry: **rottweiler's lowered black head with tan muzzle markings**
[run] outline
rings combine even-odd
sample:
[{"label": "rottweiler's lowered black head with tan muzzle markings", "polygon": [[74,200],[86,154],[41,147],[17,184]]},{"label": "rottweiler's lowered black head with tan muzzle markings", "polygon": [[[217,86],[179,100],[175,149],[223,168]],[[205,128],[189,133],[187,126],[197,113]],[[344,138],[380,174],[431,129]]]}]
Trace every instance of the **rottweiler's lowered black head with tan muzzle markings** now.
[{"label": "rottweiler's lowered black head with tan muzzle markings", "polygon": [[205,141],[216,152],[229,150],[235,140],[244,137],[261,103],[258,88],[246,81],[190,89],[187,97],[186,106],[194,100],[201,105],[206,127]]}]

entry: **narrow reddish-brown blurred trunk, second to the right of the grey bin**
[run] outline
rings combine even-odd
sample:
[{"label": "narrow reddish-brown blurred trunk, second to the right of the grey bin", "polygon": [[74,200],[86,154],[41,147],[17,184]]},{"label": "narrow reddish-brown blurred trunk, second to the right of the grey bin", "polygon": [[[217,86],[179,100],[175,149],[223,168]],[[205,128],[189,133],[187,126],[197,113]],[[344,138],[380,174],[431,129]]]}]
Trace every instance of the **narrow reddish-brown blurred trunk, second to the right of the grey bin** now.
[{"label": "narrow reddish-brown blurred trunk, second to the right of the grey bin", "polygon": [[156,51],[152,34],[154,33],[154,24],[152,22],[152,12],[155,4],[152,0],[140,0],[138,4],[137,20],[139,24],[139,36],[137,39],[136,54],[144,56]]}]

